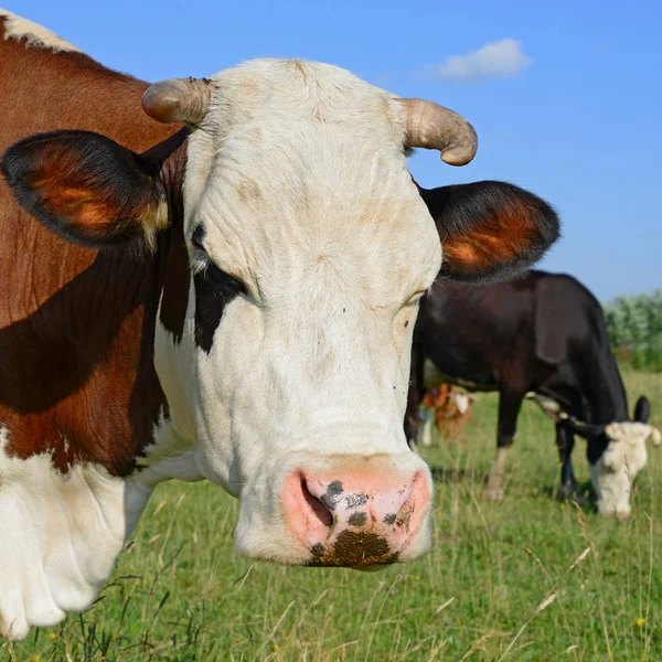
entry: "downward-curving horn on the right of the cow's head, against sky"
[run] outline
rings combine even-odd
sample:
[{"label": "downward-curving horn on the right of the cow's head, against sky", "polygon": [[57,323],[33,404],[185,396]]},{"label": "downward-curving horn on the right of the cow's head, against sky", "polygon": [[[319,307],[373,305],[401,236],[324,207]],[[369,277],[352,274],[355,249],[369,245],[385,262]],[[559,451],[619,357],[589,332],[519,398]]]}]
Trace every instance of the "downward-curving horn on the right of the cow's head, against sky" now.
[{"label": "downward-curving horn on the right of the cow's head, against sky", "polygon": [[476,156],[478,136],[460,115],[424,99],[397,99],[407,113],[407,147],[438,149],[450,166],[466,166]]}]

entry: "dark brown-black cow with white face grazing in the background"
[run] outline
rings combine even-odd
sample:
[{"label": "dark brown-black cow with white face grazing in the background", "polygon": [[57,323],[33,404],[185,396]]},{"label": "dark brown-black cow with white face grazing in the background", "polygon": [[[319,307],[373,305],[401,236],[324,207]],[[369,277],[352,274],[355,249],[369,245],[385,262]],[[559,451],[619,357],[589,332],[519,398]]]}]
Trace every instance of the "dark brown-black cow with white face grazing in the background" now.
[{"label": "dark brown-black cow with white face grazing in the background", "polygon": [[[505,452],[515,437],[521,404],[530,397],[556,423],[562,494],[583,500],[572,467],[574,435],[579,433],[588,439],[600,510],[620,516],[629,513],[631,479],[645,463],[645,438],[652,435],[656,440],[658,433],[644,425],[645,398],[630,421],[602,310],[577,280],[530,271],[510,282],[435,284],[421,305],[413,346],[409,439],[416,439],[424,365],[430,360],[445,381],[500,394],[498,451],[488,477],[488,496],[502,496]],[[636,450],[623,455],[617,468],[608,467],[612,451],[629,445]],[[617,476],[618,488],[611,484]]]}]

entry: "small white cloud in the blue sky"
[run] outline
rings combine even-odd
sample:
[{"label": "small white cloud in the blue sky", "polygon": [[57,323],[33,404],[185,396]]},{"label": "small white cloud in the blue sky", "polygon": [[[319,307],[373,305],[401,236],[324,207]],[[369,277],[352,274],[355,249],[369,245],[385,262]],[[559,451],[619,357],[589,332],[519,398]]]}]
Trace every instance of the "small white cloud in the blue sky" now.
[{"label": "small white cloud in the blue sky", "polygon": [[429,67],[435,77],[451,81],[503,78],[514,76],[531,64],[515,39],[502,39],[467,55],[451,55],[438,66]]}]

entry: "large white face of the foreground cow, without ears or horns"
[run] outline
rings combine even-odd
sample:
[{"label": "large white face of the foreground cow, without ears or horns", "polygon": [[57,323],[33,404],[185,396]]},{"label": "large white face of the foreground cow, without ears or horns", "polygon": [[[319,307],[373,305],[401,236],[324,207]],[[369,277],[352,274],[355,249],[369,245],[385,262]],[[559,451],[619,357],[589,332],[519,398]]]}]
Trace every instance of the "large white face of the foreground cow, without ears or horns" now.
[{"label": "large white face of the foreground cow, without ears or horns", "polygon": [[410,535],[391,547],[417,556],[430,483],[403,418],[417,299],[441,250],[402,108],[328,65],[261,61],[213,81],[188,152],[184,335],[157,331],[171,425],[241,498],[245,554],[331,556],[327,519],[405,509]]}]

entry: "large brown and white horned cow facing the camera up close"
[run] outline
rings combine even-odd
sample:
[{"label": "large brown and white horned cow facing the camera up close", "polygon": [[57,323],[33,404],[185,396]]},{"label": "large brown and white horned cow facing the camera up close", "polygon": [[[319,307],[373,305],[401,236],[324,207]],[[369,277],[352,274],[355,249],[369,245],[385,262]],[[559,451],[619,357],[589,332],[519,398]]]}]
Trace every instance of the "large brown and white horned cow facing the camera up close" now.
[{"label": "large brown and white horned cow facing the camera up close", "polygon": [[237,496],[253,558],[424,554],[418,298],[441,243],[449,278],[515,273],[553,211],[480,184],[428,207],[408,147],[461,166],[471,126],[333,66],[149,86],[12,14],[0,35],[2,633],[85,609],[171,478]]}]

